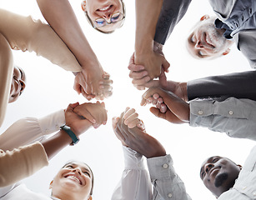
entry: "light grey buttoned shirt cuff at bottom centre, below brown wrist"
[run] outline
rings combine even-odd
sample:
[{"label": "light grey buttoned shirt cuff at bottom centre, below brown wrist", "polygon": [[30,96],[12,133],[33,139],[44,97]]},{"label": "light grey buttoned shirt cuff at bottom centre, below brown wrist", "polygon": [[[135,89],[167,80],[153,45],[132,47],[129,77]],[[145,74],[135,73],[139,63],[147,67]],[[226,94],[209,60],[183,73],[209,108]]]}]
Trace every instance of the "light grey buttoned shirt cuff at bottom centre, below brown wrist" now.
[{"label": "light grey buttoned shirt cuff at bottom centre, below brown wrist", "polygon": [[148,158],[147,163],[151,179],[167,179],[175,175],[173,159],[169,154],[163,157]]}]

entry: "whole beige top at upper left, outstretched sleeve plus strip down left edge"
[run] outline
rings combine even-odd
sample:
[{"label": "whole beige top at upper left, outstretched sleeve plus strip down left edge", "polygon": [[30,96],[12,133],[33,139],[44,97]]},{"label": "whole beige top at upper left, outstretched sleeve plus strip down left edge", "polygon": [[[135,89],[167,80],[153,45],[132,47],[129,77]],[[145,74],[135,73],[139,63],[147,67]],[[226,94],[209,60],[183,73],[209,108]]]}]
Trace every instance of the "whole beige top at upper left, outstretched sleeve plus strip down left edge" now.
[{"label": "whole beige top at upper left, outstretched sleeve plus strip down left edge", "polygon": [[12,49],[36,52],[67,71],[81,67],[66,44],[48,24],[0,9],[0,126],[3,123],[13,75]]}]

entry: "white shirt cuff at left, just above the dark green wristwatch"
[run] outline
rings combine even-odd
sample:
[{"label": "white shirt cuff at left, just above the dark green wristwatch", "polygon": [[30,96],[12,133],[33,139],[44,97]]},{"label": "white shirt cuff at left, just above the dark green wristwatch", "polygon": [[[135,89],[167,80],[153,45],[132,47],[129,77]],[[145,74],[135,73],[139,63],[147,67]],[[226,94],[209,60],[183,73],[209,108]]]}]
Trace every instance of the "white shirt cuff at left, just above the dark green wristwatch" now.
[{"label": "white shirt cuff at left, just above the dark green wristwatch", "polygon": [[48,135],[57,132],[59,128],[66,123],[65,112],[64,110],[53,112],[52,114],[46,117],[39,118],[38,122],[43,135]]}]

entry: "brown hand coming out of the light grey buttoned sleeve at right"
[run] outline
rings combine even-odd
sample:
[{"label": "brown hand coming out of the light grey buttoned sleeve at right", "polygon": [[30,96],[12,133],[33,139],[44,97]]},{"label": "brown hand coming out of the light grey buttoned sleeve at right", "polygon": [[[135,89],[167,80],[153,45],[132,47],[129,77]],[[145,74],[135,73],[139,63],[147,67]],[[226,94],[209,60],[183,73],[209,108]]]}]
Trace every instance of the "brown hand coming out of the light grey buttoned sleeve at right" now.
[{"label": "brown hand coming out of the light grey buttoned sleeve at right", "polygon": [[[161,97],[163,101],[158,98]],[[154,101],[154,102],[153,102]],[[173,92],[164,91],[161,87],[152,87],[144,92],[141,105],[144,106],[148,103],[160,103],[160,108],[151,107],[150,112],[155,116],[168,120],[173,123],[189,122],[189,104],[184,102],[181,98],[177,97]],[[166,105],[166,112],[161,112],[162,104]]]}]

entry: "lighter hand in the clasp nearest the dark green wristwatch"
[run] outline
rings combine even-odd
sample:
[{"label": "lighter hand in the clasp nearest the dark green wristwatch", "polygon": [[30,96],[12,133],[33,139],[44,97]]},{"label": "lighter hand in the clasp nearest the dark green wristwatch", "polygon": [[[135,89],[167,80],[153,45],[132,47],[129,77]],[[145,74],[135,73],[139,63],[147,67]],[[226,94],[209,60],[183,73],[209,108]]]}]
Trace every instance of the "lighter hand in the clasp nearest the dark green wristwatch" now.
[{"label": "lighter hand in the clasp nearest the dark green wristwatch", "polygon": [[105,125],[108,120],[104,102],[86,102],[74,107],[73,112],[93,123],[93,128]]}]

